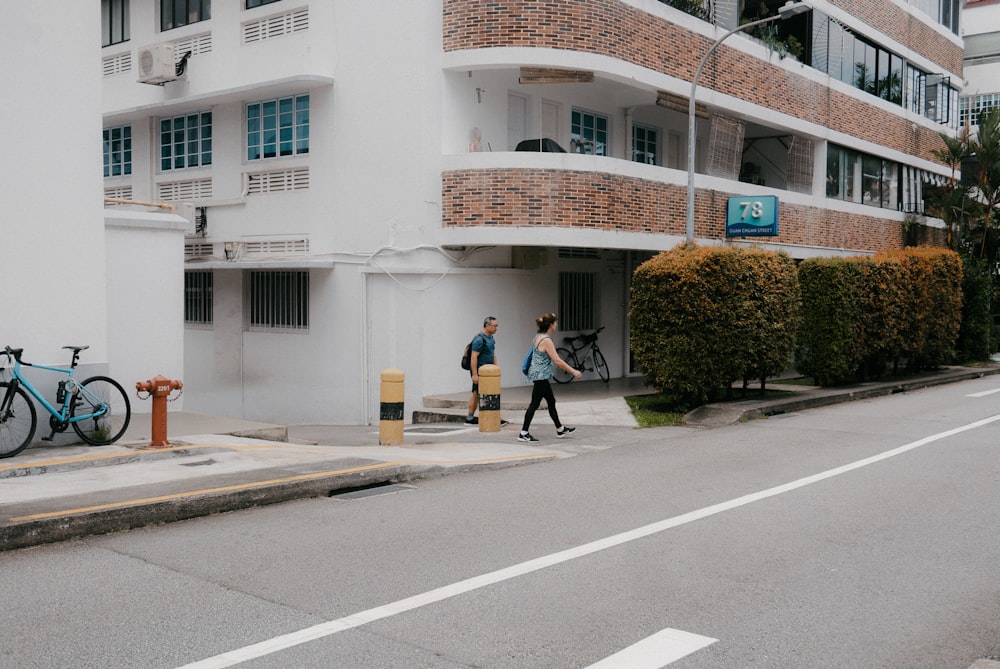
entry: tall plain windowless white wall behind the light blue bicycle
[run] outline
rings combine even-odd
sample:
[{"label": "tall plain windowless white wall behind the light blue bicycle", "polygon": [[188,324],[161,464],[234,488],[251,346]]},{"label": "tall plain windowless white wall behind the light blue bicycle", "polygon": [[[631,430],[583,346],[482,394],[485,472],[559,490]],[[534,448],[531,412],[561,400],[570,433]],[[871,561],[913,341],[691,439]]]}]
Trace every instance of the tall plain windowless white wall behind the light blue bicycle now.
[{"label": "tall plain windowless white wall behind the light blue bicycle", "polygon": [[[4,317],[0,347],[40,363],[64,345],[108,359],[101,199],[101,32],[96,3],[4,3]],[[54,384],[53,384],[54,385]]]}]

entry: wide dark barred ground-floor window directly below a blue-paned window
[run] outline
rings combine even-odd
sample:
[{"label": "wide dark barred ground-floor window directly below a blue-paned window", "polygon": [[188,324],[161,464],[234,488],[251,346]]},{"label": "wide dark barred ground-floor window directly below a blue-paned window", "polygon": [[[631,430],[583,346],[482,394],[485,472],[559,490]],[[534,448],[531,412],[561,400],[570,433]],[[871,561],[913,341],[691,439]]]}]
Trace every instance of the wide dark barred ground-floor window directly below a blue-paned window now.
[{"label": "wide dark barred ground-floor window directly below a blue-paned window", "polygon": [[249,288],[252,329],[304,330],[309,327],[309,273],[252,271]]}]

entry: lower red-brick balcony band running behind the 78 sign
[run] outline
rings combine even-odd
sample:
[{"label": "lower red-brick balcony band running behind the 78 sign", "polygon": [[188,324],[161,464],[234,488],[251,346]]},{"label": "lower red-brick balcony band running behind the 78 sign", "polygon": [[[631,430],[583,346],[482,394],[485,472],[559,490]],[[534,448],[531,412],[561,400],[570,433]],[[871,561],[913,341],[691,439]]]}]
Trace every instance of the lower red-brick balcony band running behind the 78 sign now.
[{"label": "lower red-brick balcony band running behind the 78 sign", "polygon": [[[696,193],[695,236],[725,236],[730,193]],[[736,193],[732,193],[736,195]],[[563,227],[684,236],[687,191],[608,173],[541,169],[445,172],[444,227]],[[781,204],[780,234],[768,241],[833,249],[880,251],[903,245],[902,225],[872,215]],[[931,231],[928,243],[937,240]]]}]

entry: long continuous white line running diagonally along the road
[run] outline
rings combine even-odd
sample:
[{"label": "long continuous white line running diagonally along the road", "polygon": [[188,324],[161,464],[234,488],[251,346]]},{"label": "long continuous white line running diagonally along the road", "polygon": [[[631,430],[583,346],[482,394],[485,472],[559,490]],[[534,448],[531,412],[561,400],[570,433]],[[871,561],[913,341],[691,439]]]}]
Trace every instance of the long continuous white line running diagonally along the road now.
[{"label": "long continuous white line running diagonally along the road", "polygon": [[497,571],[492,571],[480,576],[473,576],[472,578],[464,581],[452,583],[451,585],[442,586],[434,590],[428,590],[427,592],[407,597],[406,599],[401,599],[396,602],[376,606],[373,609],[360,611],[344,618],[330,620],[312,627],[307,627],[297,632],[290,632],[259,643],[244,646],[243,648],[237,648],[236,650],[231,650],[214,657],[209,657],[198,662],[184,665],[181,669],[221,669],[222,667],[231,667],[235,664],[239,664],[240,662],[246,662],[258,657],[263,657],[264,655],[275,653],[285,648],[291,648],[309,641],[322,639],[323,637],[353,629],[367,623],[375,622],[376,620],[383,620],[400,613],[413,611],[430,604],[435,604],[452,597],[463,595],[467,592],[472,592],[496,583],[517,578],[518,576],[524,576],[525,574],[530,574],[532,572],[545,569],[546,567],[552,567],[554,565],[569,562],[570,560],[591,555],[608,548],[621,546],[622,544],[642,539],[653,534],[658,534],[675,527],[680,527],[681,525],[686,525],[696,520],[701,520],[726,511],[731,511],[733,509],[753,504],[754,502],[759,502],[771,497],[777,497],[778,495],[783,495],[787,492],[798,490],[799,488],[804,488],[814,483],[819,483],[842,474],[847,474],[848,472],[852,472],[856,469],[861,469],[862,467],[867,467],[869,465],[874,465],[882,462],[883,460],[888,460],[889,458],[894,458],[897,455],[902,455],[915,448],[926,446],[927,444],[935,441],[940,441],[941,439],[946,439],[956,434],[961,434],[962,432],[967,432],[984,425],[989,425],[990,423],[994,423],[998,420],[1000,420],[1000,414],[990,416],[989,418],[984,418],[973,423],[968,423],[951,430],[938,432],[937,434],[932,434],[929,437],[911,441],[910,443],[899,446],[898,448],[883,451],[878,455],[873,455],[862,460],[856,460],[855,462],[835,467],[833,469],[828,469],[824,472],[813,474],[812,476],[806,476],[773,488],[737,497],[726,502],[720,502],[719,504],[713,504],[712,506],[706,506],[703,509],[698,509],[680,516],[674,516],[673,518],[667,518],[649,525],[637,527],[634,530],[622,532],[621,534],[615,534],[610,537],[598,539],[597,541],[582,544],[558,553],[543,555],[542,557],[535,558],[534,560],[528,560],[527,562],[505,567],[504,569],[498,569]]}]

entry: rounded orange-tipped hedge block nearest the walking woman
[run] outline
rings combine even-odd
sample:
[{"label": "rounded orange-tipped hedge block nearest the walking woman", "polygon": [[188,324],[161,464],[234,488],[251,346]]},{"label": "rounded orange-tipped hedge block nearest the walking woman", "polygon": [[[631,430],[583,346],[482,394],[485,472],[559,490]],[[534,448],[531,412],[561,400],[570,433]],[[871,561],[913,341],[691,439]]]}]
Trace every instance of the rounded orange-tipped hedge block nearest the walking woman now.
[{"label": "rounded orange-tipped hedge block nearest the walking woman", "polygon": [[784,253],[678,246],[633,275],[632,351],[659,392],[709,401],[737,380],[785,370],[799,301],[795,264]]}]

